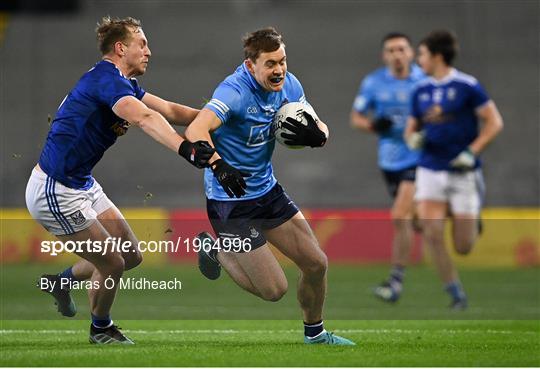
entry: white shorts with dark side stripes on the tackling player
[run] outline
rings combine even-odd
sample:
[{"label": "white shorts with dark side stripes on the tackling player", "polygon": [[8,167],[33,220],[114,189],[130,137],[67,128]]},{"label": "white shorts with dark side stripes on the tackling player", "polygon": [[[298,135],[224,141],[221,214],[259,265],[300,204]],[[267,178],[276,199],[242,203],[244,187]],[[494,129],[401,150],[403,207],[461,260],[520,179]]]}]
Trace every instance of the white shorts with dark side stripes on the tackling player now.
[{"label": "white shorts with dark side stripes on the tackling player", "polygon": [[88,190],[76,190],[34,168],[26,185],[26,206],[47,231],[62,236],[90,227],[113,203],[96,180]]}]

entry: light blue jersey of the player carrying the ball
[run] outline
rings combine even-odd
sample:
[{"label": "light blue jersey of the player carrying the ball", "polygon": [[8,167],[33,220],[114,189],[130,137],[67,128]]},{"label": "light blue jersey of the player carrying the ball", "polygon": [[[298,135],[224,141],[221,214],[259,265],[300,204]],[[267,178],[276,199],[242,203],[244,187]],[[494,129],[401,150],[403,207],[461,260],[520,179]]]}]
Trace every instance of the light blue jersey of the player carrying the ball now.
[{"label": "light blue jersey of the player carrying the ball", "polygon": [[207,198],[249,200],[272,189],[277,183],[271,163],[275,146],[272,120],[279,108],[289,102],[307,104],[302,85],[291,73],[286,74],[279,92],[264,90],[244,63],[220,83],[204,107],[213,111],[222,123],[212,133],[212,141],[223,160],[251,177],[246,178],[246,195],[230,198],[207,168],[204,173]]}]

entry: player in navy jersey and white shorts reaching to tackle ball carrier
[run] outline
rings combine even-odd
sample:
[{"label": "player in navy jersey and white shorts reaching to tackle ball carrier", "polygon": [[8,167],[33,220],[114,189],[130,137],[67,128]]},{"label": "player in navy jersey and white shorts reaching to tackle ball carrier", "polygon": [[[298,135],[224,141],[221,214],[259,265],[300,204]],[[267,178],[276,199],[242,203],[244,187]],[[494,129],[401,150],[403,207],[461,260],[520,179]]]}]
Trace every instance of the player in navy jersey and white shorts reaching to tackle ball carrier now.
[{"label": "player in navy jersey and white shorts reaching to tackle ball carrier", "polygon": [[140,264],[142,256],[133,231],[92,177],[92,169],[130,125],[198,168],[208,165],[215,150],[208,142],[182,138],[168,123],[187,126],[198,110],[147,93],[133,78],[145,73],[151,55],[138,20],[106,17],[96,32],[103,58],[60,104],[28,181],[26,204],[32,217],[60,241],[104,242],[112,237],[131,241],[132,249],[125,253],[77,252],[82,260],[42,279],[54,286],[46,292],[65,316],[76,313],[66,286],[90,279],[94,287],[88,289],[90,342],[132,344],[113,324],[110,310],[122,273]]}]

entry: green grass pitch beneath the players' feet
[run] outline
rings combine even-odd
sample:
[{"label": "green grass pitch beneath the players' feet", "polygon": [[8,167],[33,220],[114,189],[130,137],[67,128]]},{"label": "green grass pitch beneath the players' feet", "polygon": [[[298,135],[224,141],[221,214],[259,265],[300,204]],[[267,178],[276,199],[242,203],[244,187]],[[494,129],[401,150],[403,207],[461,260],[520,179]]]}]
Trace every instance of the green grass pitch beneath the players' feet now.
[{"label": "green grass pitch beneath the players' feet", "polygon": [[45,269],[0,269],[2,366],[540,366],[538,269],[463,270],[470,308],[452,312],[430,268],[410,268],[403,299],[386,305],[370,295],[386,267],[333,265],[325,325],[355,347],[302,343],[294,269],[289,293],[269,303],[228,277],[206,281],[192,265],[129,273],[176,276],[182,290],[120,291],[113,318],[136,345],[95,347],[84,291],[74,292],[77,319],[59,319],[34,287],[58,267]]}]

